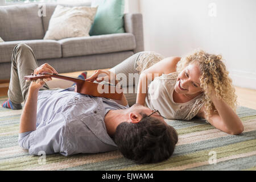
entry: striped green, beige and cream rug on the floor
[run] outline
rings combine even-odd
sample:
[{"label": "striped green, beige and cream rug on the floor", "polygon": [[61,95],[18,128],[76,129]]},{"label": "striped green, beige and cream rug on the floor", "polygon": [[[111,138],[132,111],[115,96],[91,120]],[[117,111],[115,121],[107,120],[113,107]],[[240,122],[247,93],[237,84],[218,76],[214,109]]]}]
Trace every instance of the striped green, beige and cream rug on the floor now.
[{"label": "striped green, beige and cream rug on the floor", "polygon": [[[0,97],[0,104],[7,98]],[[256,110],[238,107],[245,130],[229,135],[203,119],[167,120],[177,130],[174,155],[156,164],[138,165],[119,151],[101,154],[28,155],[18,146],[22,110],[0,108],[0,170],[256,170]]]}]

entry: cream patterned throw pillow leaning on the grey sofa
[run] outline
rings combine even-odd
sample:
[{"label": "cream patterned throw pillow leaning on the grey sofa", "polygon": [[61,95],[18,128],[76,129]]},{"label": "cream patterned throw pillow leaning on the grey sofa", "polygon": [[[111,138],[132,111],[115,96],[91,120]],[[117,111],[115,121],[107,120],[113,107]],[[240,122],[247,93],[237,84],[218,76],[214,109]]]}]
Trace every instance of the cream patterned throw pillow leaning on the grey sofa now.
[{"label": "cream patterned throw pillow leaning on the grey sofa", "polygon": [[60,40],[89,36],[96,11],[97,7],[57,5],[49,20],[49,27],[44,39]]}]

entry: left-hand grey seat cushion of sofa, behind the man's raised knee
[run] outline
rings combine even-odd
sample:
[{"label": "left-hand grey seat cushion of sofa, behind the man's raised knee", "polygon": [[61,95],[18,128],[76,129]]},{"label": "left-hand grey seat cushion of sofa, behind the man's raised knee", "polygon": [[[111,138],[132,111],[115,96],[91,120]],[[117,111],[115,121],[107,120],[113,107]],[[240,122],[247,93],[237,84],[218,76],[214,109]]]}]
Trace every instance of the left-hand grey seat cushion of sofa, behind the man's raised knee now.
[{"label": "left-hand grey seat cushion of sofa, behind the man's raised knee", "polygon": [[32,48],[36,59],[61,57],[61,45],[56,40],[20,40],[0,43],[0,63],[11,62],[14,47],[25,43]]}]

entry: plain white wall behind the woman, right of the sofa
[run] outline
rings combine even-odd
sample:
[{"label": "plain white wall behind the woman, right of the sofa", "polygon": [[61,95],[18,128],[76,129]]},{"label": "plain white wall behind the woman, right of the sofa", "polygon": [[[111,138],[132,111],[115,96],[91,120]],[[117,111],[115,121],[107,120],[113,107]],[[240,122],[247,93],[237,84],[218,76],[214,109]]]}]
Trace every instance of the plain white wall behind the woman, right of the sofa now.
[{"label": "plain white wall behind the woman, right of the sofa", "polygon": [[165,57],[184,56],[196,48],[221,54],[233,84],[256,89],[255,0],[137,2],[133,6],[143,14],[146,51]]}]

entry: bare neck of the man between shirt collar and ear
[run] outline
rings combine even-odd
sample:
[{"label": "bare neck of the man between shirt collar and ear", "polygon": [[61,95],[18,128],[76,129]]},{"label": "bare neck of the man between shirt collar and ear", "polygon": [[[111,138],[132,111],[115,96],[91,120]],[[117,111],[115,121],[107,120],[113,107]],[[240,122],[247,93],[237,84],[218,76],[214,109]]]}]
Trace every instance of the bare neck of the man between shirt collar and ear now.
[{"label": "bare neck of the man between shirt collar and ear", "polygon": [[106,130],[110,137],[114,137],[115,130],[117,126],[126,121],[126,112],[125,110],[110,110],[105,115],[104,122]]}]

